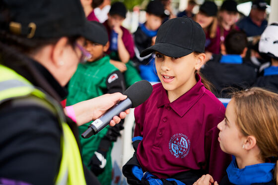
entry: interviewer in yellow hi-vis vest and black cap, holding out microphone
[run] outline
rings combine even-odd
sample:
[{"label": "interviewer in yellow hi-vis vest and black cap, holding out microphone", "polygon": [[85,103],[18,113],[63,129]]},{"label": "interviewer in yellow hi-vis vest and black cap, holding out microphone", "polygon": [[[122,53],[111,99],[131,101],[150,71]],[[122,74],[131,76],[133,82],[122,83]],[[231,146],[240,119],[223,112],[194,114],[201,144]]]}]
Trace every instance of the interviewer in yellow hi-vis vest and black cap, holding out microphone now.
[{"label": "interviewer in yellow hi-vis vest and black cap, holding out microphone", "polygon": [[0,0],[0,184],[99,184],[81,163],[76,123],[126,96],[68,107],[76,123],[59,104],[78,62],[90,56],[80,38],[92,37],[87,24],[80,0]]}]

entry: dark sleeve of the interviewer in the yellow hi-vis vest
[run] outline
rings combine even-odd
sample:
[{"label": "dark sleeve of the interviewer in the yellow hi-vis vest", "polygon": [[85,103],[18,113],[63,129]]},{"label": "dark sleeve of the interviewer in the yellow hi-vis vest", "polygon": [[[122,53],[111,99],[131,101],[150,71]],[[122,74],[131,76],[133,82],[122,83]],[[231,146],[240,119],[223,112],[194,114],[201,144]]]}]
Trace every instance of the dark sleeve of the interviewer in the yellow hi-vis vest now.
[{"label": "dark sleeve of the interviewer in the yellow hi-vis vest", "polygon": [[38,106],[0,107],[0,177],[52,185],[61,160],[61,129]]}]

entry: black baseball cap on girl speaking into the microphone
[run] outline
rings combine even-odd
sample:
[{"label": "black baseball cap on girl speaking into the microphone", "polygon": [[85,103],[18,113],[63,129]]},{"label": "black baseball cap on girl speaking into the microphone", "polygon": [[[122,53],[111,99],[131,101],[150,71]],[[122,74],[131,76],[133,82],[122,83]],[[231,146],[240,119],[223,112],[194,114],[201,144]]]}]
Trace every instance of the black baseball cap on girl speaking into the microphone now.
[{"label": "black baseball cap on girl speaking into the microphone", "polygon": [[206,35],[200,24],[186,16],[173,18],[159,27],[155,44],[144,49],[140,57],[153,51],[170,57],[182,57],[193,51],[204,52],[205,42]]}]

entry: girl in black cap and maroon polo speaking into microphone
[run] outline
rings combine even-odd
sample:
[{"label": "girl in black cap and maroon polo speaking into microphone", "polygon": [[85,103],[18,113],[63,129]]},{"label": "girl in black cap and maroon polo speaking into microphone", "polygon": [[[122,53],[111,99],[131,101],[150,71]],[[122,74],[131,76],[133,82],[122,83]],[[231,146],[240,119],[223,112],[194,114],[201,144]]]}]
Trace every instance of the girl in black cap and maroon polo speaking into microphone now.
[{"label": "girl in black cap and maroon polo speaking into microphone", "polygon": [[225,175],[231,156],[221,151],[216,127],[225,108],[198,72],[205,42],[202,27],[180,17],[162,24],[155,45],[141,52],[156,53],[161,83],[135,108],[136,152],[123,167],[128,183],[192,185],[207,172],[217,180]]}]

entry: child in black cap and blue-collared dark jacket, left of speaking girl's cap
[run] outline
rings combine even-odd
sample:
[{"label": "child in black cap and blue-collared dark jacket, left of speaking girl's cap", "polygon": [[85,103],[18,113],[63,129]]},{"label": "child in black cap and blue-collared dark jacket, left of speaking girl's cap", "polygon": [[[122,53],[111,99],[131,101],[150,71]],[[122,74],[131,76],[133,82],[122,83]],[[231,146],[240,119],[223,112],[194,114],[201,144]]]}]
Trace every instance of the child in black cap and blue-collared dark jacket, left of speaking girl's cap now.
[{"label": "child in black cap and blue-collared dark jacket, left of speaking girl's cap", "polygon": [[139,65],[142,79],[149,82],[159,81],[154,67],[154,56],[150,54],[146,57],[140,57],[140,52],[154,44],[153,41],[155,41],[157,30],[162,24],[164,16],[164,6],[160,0],[150,1],[146,8],[146,22],[139,24],[134,33],[135,58],[133,60]]}]

